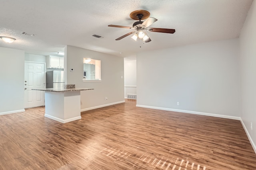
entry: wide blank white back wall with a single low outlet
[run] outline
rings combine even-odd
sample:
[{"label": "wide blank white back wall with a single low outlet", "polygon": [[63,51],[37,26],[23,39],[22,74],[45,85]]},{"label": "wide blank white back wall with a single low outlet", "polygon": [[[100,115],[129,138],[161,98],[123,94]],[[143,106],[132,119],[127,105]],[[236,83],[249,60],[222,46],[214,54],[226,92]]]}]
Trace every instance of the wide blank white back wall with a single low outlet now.
[{"label": "wide blank white back wall with a single low outlet", "polygon": [[238,47],[230,39],[139,53],[137,106],[240,119]]}]

